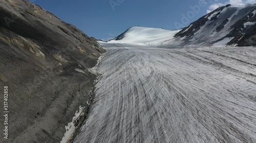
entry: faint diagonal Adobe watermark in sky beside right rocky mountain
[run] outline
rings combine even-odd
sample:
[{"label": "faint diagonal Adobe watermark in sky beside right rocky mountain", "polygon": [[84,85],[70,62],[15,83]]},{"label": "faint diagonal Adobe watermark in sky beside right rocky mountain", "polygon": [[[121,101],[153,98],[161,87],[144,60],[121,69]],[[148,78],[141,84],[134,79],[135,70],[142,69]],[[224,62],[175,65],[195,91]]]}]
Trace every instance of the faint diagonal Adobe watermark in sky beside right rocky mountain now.
[{"label": "faint diagonal Adobe watermark in sky beside right rocky mountain", "polygon": [[205,7],[208,3],[205,0],[199,0],[198,5],[195,6],[189,6],[190,11],[188,11],[185,14],[181,14],[181,22],[175,21],[174,25],[177,30],[184,28],[187,24],[189,24],[190,20],[193,19],[196,14],[198,14],[201,11],[201,8]]}]

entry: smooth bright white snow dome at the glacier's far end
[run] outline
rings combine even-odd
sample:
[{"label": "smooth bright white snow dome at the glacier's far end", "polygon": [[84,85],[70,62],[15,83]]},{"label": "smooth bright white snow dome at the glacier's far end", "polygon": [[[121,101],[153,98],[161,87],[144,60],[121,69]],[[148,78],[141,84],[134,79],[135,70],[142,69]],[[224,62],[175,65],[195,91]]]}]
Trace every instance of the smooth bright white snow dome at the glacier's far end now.
[{"label": "smooth bright white snow dome at the glacier's far end", "polygon": [[162,28],[148,28],[134,26],[126,30],[108,43],[156,43],[173,39],[180,32],[169,31]]}]

